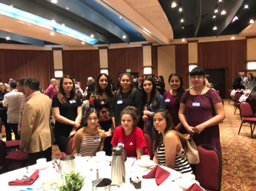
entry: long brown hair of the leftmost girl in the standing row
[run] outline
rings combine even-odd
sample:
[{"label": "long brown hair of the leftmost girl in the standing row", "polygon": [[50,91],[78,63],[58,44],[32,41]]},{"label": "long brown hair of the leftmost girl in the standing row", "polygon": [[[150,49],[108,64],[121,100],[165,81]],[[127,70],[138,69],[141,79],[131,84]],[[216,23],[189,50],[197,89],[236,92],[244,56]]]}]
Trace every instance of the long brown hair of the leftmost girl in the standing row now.
[{"label": "long brown hair of the leftmost girl in the standing row", "polygon": [[70,97],[71,97],[72,100],[76,101],[76,87],[75,87],[74,80],[73,80],[73,78],[71,76],[64,75],[63,77],[60,78],[60,89],[57,92],[57,96],[58,96],[59,102],[61,104],[66,103],[68,101],[67,98],[65,97],[66,94],[65,94],[64,89],[63,89],[63,80],[65,78],[66,79],[71,79],[71,81],[73,83],[73,88],[71,89]]}]

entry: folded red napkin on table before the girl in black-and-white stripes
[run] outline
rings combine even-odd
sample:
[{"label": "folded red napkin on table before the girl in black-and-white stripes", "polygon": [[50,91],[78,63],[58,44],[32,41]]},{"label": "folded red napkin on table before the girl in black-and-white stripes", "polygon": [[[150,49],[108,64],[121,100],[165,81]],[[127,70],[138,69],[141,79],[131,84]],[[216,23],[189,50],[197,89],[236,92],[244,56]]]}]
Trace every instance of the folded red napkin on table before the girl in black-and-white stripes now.
[{"label": "folded red napkin on table before the girl in black-and-white stripes", "polygon": [[142,178],[155,178],[155,183],[157,183],[157,186],[160,186],[160,184],[162,184],[163,181],[170,176],[170,174],[170,172],[157,165],[150,172],[148,172],[147,175],[142,176]]}]

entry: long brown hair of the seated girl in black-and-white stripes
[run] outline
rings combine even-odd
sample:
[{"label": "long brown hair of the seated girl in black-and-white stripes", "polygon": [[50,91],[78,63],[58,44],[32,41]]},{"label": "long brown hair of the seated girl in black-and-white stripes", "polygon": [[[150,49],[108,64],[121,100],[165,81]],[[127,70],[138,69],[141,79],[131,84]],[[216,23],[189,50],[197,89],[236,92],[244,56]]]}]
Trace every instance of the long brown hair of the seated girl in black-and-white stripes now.
[{"label": "long brown hair of the seated girl in black-and-white stripes", "polygon": [[[168,110],[165,110],[165,109],[157,109],[155,110],[155,114],[156,113],[161,113],[161,116],[163,118],[165,118],[166,120],[166,128],[165,128],[165,131],[164,131],[164,135],[169,131],[169,130],[173,130],[175,131],[175,133],[178,135],[178,138],[180,139],[181,141],[181,145],[182,145],[182,148],[185,150],[187,150],[187,140],[186,138],[180,134],[179,132],[177,132],[177,130],[175,129],[174,125],[173,125],[173,120],[172,120],[172,117],[170,115],[170,113],[168,112]],[[154,115],[155,115],[154,114]],[[154,116],[153,116],[154,118]],[[158,133],[157,129],[155,129],[155,127],[153,128],[153,135],[154,135],[154,143],[153,143],[153,147],[154,147],[154,152],[159,151],[162,143],[163,143],[163,135],[161,133]]]}]

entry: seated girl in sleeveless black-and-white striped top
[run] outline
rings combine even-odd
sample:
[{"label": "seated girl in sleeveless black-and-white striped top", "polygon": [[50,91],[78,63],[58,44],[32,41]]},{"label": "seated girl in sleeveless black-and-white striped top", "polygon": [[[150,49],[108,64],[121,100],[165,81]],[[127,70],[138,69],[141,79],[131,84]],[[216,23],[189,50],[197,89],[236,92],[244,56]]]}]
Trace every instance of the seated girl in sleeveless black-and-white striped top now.
[{"label": "seated girl in sleeveless black-and-white striped top", "polygon": [[154,117],[154,159],[157,164],[172,168],[180,173],[192,173],[187,161],[176,154],[185,154],[186,138],[178,133],[173,125],[170,113],[165,109],[155,111]]}]

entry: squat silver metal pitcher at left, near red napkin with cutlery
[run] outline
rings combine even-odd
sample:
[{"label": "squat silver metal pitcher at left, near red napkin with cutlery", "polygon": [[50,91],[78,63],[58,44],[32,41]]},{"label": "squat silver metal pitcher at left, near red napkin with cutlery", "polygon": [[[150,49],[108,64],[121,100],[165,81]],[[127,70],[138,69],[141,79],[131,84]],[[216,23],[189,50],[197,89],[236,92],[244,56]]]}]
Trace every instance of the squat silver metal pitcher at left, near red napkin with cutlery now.
[{"label": "squat silver metal pitcher at left, near red napkin with cutlery", "polygon": [[60,163],[57,163],[57,159],[54,159],[54,167],[57,172],[63,174],[64,172],[69,174],[71,171],[76,170],[76,160],[74,156],[68,155],[60,158]]}]

